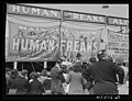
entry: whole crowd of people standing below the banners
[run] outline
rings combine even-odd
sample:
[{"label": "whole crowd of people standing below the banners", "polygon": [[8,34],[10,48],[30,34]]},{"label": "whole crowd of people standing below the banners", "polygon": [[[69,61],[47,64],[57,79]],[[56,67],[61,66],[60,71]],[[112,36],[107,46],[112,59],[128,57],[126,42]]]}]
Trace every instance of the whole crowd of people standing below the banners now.
[{"label": "whole crowd of people standing below the banners", "polygon": [[119,94],[118,86],[128,83],[129,68],[123,63],[114,64],[106,50],[97,58],[82,63],[81,55],[72,61],[63,56],[47,74],[7,69],[7,94]]}]

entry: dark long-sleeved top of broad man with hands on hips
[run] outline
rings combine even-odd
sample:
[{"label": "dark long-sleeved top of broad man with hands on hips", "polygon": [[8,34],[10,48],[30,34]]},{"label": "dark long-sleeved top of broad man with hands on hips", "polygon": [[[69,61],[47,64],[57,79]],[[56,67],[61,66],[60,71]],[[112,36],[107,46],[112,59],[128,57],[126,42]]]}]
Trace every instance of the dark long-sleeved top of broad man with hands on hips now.
[{"label": "dark long-sleeved top of broad man with hands on hips", "polygon": [[108,60],[99,60],[94,65],[90,65],[82,76],[88,80],[91,76],[95,80],[94,91],[98,93],[118,93],[116,82],[117,75],[119,75],[119,82],[123,83],[124,71],[113,63]]}]

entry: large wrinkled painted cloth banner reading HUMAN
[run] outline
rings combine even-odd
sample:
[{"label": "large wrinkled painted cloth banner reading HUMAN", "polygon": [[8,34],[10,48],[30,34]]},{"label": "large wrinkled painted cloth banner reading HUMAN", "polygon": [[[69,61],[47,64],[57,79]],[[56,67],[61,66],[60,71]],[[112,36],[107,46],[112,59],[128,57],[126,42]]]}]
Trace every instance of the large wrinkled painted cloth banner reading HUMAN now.
[{"label": "large wrinkled painted cloth banner reading HUMAN", "polygon": [[38,23],[9,22],[7,61],[56,60],[59,57],[59,27],[43,27]]}]

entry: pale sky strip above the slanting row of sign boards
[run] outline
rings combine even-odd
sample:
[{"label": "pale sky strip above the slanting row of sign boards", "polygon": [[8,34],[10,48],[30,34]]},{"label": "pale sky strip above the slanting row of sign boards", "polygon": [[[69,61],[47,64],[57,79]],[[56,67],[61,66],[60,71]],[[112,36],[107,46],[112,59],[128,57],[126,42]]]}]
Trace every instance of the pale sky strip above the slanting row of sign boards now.
[{"label": "pale sky strip above the slanting row of sign boards", "polygon": [[[51,9],[62,9],[69,11],[78,11],[92,14],[103,14],[110,16],[119,16],[129,19],[129,4],[53,4],[53,3],[21,3],[28,5],[51,8]],[[102,9],[102,5],[109,5],[108,9]]]}]

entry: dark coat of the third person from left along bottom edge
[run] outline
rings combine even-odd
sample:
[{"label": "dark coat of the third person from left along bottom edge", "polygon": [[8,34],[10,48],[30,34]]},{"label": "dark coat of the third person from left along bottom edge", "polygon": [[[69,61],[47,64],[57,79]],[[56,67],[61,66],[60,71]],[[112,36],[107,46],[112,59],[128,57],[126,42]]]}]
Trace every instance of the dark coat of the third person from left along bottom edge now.
[{"label": "dark coat of the third person from left along bottom edge", "polygon": [[43,85],[37,79],[30,82],[30,94],[42,94]]}]

